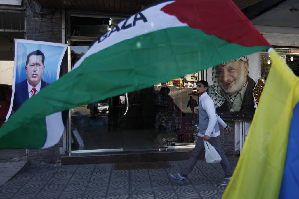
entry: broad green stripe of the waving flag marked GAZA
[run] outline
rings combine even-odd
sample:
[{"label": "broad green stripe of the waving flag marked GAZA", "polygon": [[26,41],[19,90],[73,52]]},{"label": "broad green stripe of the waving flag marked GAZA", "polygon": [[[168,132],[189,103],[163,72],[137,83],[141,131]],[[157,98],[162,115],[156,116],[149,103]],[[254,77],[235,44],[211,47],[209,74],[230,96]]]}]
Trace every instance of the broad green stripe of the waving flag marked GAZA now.
[{"label": "broad green stripe of the waving flag marked GAZA", "polygon": [[[39,134],[41,130],[35,129],[44,130],[45,123],[36,123],[36,128],[31,124],[39,118],[45,120],[46,115],[147,88],[267,48],[231,44],[190,27],[172,27],[124,40],[85,58],[78,68],[27,100],[0,129],[0,147],[4,148],[3,136]],[[19,147],[13,137],[9,142],[6,148]],[[26,139],[22,146],[38,148],[32,142]]]}]

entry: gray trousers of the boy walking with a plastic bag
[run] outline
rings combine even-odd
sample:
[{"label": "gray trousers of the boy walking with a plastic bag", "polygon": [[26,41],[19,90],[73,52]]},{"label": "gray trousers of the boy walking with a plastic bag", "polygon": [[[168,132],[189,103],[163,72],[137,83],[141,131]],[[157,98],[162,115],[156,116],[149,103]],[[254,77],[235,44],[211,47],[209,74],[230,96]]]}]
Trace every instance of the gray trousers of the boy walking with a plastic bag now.
[{"label": "gray trousers of the boy walking with a plastic bag", "polygon": [[[233,175],[233,171],[231,169],[231,165],[229,164],[224,152],[221,149],[220,146],[220,141],[219,141],[219,136],[217,137],[211,137],[210,140],[208,141],[213,147],[215,147],[216,151],[219,153],[221,156],[221,166],[222,169],[224,170],[224,177],[228,178]],[[202,141],[202,137],[198,137],[195,148],[193,149],[189,160],[187,161],[185,168],[181,170],[180,175],[183,177],[187,177],[188,174],[192,171],[194,165],[196,164],[199,156],[202,154],[204,151],[205,146],[204,142]]]}]

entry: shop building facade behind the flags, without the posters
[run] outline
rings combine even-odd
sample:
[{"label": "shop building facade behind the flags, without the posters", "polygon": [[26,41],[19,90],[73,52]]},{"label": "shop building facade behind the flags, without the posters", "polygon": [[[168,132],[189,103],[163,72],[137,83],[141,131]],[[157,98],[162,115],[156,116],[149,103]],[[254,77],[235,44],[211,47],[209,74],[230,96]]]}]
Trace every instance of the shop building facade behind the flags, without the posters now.
[{"label": "shop building facade behind the flags, without the posters", "polygon": [[[68,44],[60,71],[62,76],[71,71],[74,63],[86,53],[89,45],[97,37],[154,0],[143,1],[140,4],[131,1],[84,3],[74,0],[13,2],[13,5],[0,5],[2,21],[7,19],[4,15],[11,16],[11,23],[2,23],[0,28],[0,39],[5,43],[0,47],[3,55],[0,62],[5,62],[0,71],[5,70],[5,74],[1,72],[0,76],[10,76],[7,72],[11,72],[12,76],[14,38]],[[299,27],[290,23],[287,24],[288,27],[269,24],[267,19],[268,15],[273,17],[273,13],[277,12],[273,9],[279,10],[281,7],[298,17],[296,11],[290,11],[292,7],[298,7],[298,3],[288,0],[273,7],[273,4],[257,5],[256,1],[248,0],[238,6],[248,18],[252,17],[257,29],[271,45],[280,50],[281,56],[285,57],[296,73]],[[266,13],[254,14],[255,7],[262,6],[269,10]],[[266,51],[248,57],[251,67],[249,76],[254,76],[255,81],[261,79],[266,82],[270,66]],[[205,79],[213,85],[213,68],[194,72],[195,74],[175,79],[177,85],[179,81],[177,87],[153,85],[150,88],[72,108],[69,110],[68,122],[60,142],[48,149],[28,150],[28,160],[30,163],[78,163],[76,160],[80,160],[80,163],[95,163],[187,159],[188,153],[194,147],[198,131],[196,106],[194,111],[187,108],[190,97],[198,102],[198,99],[192,96],[192,86],[199,79]],[[6,79],[5,82],[4,78],[1,79],[6,84],[12,82],[12,79]],[[188,86],[183,86],[182,79],[187,80]],[[193,84],[190,83],[192,80]],[[103,81],[109,80],[103,78]],[[105,82],[107,83],[109,82]],[[220,129],[223,150],[226,154],[238,154],[242,150],[252,117],[223,115],[223,119],[232,127],[231,134]],[[127,158],[120,159],[120,156]]]}]

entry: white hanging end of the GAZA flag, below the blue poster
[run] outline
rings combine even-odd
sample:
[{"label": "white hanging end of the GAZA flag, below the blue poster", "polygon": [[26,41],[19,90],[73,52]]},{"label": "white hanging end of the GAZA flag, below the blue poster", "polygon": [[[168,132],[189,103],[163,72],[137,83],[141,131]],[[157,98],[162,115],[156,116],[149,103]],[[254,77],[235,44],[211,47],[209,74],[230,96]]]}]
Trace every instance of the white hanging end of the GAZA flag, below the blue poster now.
[{"label": "white hanging end of the GAZA flag, below the blue poster", "polygon": [[59,142],[64,130],[61,112],[46,116],[46,125],[47,137],[42,149],[54,146]]}]

